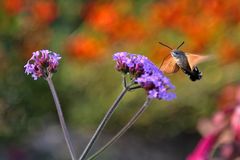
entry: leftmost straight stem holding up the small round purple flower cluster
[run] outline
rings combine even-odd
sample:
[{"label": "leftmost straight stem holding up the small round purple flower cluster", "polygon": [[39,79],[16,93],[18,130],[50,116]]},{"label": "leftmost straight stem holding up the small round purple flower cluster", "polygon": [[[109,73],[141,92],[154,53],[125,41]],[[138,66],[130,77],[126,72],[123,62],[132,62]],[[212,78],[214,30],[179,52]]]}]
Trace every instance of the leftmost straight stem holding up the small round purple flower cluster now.
[{"label": "leftmost straight stem holding up the small round purple flower cluster", "polygon": [[62,127],[63,135],[64,135],[65,141],[67,143],[71,158],[72,158],[72,160],[76,160],[76,154],[75,154],[73,145],[71,143],[69,132],[68,132],[65,120],[64,120],[63,113],[62,113],[61,105],[60,105],[56,90],[54,88],[52,79],[51,78],[46,78],[46,80],[47,80],[49,88],[52,92],[52,96],[53,96],[53,99],[54,99],[54,102],[55,102],[55,105],[56,105],[56,108],[57,108],[58,117],[59,117],[60,124],[61,124],[61,127]]}]

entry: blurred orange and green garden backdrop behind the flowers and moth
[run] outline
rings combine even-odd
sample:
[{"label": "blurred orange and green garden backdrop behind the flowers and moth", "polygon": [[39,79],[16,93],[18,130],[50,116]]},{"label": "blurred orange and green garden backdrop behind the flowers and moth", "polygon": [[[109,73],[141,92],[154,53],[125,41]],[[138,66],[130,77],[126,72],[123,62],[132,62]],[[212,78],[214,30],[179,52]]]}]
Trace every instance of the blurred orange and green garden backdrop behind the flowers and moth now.
[{"label": "blurred orange and green garden backdrop behind the flowers and moth", "polygon": [[[240,80],[240,1],[1,0],[0,159],[69,159],[46,81],[24,74],[33,51],[49,49],[63,57],[53,81],[80,154],[121,91],[112,55],[143,54],[160,65],[169,49],[158,41],[173,48],[185,41],[183,51],[215,58],[199,65],[200,81],[182,72],[168,75],[177,99],[155,100],[99,159],[185,159],[200,138],[198,119],[211,116],[221,90]],[[144,98],[143,90],[125,96],[93,150]]]}]

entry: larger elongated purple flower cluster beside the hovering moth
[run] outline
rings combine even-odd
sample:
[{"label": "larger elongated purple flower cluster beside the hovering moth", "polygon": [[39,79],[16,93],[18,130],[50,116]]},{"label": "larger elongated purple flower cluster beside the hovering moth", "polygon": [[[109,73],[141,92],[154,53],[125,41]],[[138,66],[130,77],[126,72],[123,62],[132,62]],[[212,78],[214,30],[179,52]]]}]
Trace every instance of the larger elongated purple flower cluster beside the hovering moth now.
[{"label": "larger elongated purple flower cluster beside the hovering moth", "polygon": [[113,55],[116,69],[129,74],[135,83],[147,91],[148,97],[153,99],[172,100],[176,95],[168,92],[175,87],[170,80],[147,57],[127,52],[117,52]]}]

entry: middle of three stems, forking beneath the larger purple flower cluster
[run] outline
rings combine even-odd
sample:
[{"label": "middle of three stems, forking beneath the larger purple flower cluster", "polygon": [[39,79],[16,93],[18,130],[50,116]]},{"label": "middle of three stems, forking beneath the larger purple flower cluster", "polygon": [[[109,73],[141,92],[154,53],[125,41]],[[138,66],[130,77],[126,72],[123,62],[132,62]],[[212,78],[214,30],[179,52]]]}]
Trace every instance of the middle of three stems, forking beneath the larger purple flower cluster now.
[{"label": "middle of three stems, forking beneath the larger purple flower cluster", "polygon": [[[125,85],[125,79],[123,79],[123,84]],[[131,85],[131,84],[130,84]],[[102,119],[101,123],[99,124],[98,128],[96,129],[94,135],[92,136],[92,138],[90,139],[90,141],[88,142],[86,148],[84,149],[82,155],[80,156],[79,160],[83,160],[86,158],[88,152],[90,151],[90,149],[92,148],[93,144],[95,143],[95,141],[97,140],[98,136],[100,135],[100,133],[102,132],[102,130],[104,129],[106,123],[108,122],[108,120],[111,118],[113,112],[116,110],[119,102],[121,101],[121,99],[123,98],[123,96],[127,93],[127,91],[129,90],[129,86],[124,86],[124,89],[122,90],[122,92],[120,93],[120,95],[118,96],[118,98],[115,100],[115,102],[112,104],[112,106],[109,108],[109,110],[107,111],[107,113],[105,114],[104,118]]]}]

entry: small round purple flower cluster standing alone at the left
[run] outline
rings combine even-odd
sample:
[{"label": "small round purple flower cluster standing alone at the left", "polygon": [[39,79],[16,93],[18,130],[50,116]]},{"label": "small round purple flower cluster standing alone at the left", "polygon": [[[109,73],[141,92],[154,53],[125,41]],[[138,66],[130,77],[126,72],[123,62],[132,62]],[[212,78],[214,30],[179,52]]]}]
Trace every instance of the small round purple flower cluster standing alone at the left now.
[{"label": "small round purple flower cluster standing alone at the left", "polygon": [[32,57],[24,66],[25,73],[31,74],[34,80],[47,78],[57,71],[60,55],[49,50],[39,50],[32,53]]}]

